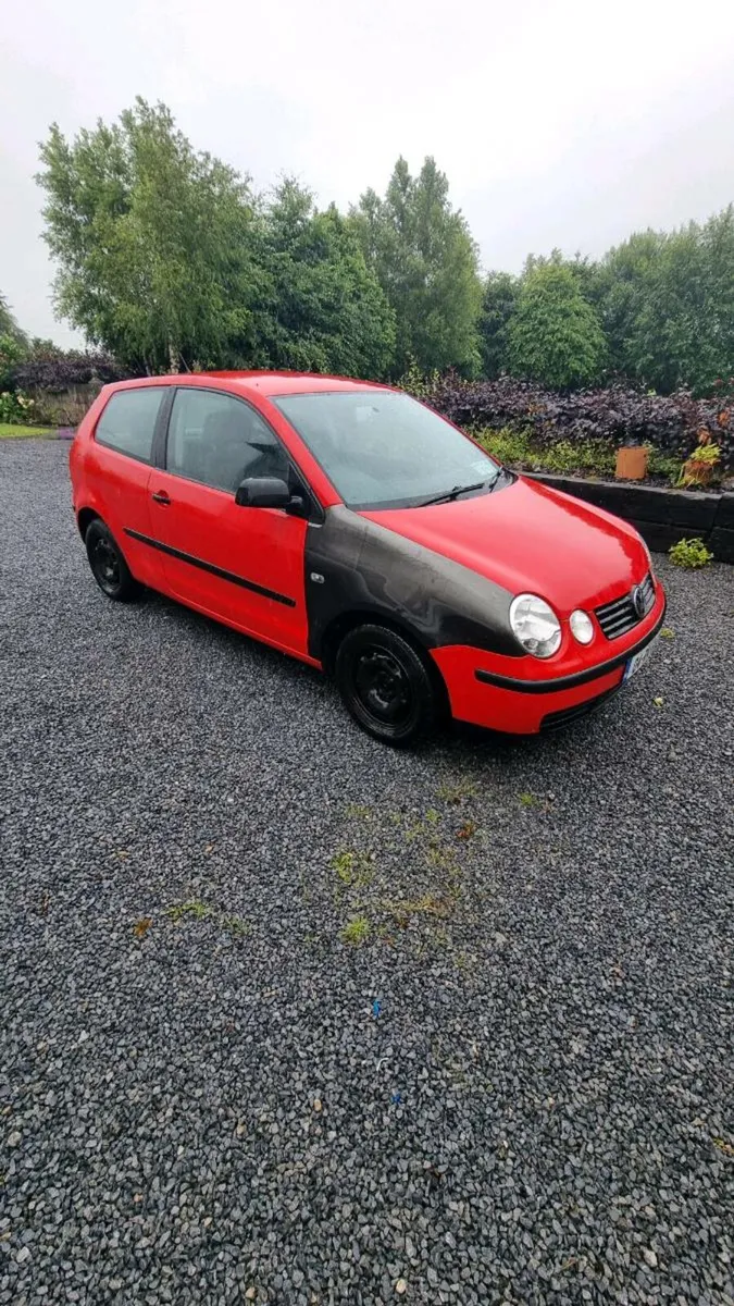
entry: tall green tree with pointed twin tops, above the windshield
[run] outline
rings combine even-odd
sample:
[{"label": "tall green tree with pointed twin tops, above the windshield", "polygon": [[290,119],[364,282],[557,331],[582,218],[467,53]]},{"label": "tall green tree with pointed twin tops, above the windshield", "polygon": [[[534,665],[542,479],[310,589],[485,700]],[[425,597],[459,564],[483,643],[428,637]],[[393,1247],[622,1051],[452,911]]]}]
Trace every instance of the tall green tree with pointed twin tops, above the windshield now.
[{"label": "tall green tree with pointed twin tops, above the windshield", "polygon": [[479,366],[477,320],[482,286],[477,246],[452,209],[448,180],[432,158],[417,178],[400,158],[384,200],[366,191],[351,210],[367,265],[394,310],[396,375]]}]

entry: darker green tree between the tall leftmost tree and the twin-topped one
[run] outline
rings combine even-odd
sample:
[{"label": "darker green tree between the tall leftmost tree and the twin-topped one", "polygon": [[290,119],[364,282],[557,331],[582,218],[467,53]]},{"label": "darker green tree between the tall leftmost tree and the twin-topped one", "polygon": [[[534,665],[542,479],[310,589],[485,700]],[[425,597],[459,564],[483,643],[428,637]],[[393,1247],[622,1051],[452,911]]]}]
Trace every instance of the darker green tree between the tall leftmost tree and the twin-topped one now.
[{"label": "darker green tree between the tall leftmost tree and the twin-topped one", "polygon": [[251,360],[263,367],[384,376],[394,315],[353,226],[293,180],[257,225],[260,269]]}]

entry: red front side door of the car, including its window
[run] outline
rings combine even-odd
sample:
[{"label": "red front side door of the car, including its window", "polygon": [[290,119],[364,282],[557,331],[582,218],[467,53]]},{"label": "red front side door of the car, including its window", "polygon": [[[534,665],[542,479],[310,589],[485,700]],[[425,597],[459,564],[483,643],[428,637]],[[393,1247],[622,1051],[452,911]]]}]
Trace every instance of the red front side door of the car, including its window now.
[{"label": "red front side door of the car, including its window", "polygon": [[168,592],[286,652],[307,654],[307,521],[235,503],[246,477],[293,479],[282,444],[244,400],[176,389],[166,468],[150,475],[154,547]]}]

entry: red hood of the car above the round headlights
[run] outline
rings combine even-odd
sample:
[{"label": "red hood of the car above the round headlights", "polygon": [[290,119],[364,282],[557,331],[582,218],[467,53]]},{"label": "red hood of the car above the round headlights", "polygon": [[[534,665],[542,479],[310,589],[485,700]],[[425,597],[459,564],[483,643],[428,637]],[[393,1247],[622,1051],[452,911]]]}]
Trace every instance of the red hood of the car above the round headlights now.
[{"label": "red hood of the car above the round headlights", "polygon": [[519,477],[491,494],[360,513],[562,616],[616,598],[649,569],[637,532],[602,508]]}]

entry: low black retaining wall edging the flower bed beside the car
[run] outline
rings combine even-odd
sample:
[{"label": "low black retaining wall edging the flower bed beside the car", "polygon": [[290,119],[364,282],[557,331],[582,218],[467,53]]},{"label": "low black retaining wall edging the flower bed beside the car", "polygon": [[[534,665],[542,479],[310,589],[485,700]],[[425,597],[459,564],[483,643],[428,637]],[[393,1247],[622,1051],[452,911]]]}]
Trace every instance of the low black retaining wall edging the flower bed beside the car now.
[{"label": "low black retaining wall edging the flower bed beside the car", "polygon": [[632,522],[657,552],[667,552],[679,539],[700,535],[717,562],[734,563],[734,494],[666,490],[628,481],[584,481],[546,471],[524,471],[522,475]]}]

